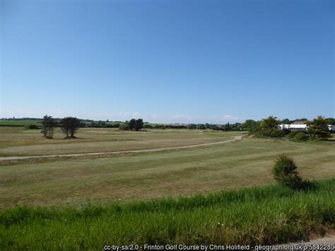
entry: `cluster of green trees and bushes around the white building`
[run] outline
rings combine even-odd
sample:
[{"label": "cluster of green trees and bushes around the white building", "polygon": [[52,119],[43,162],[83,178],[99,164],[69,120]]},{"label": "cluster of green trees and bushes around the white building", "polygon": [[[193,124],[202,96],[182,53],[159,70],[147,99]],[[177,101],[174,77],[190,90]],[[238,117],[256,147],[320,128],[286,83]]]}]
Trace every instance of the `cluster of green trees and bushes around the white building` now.
[{"label": "cluster of green trees and bushes around the white building", "polygon": [[249,134],[254,136],[272,138],[288,136],[288,138],[295,139],[296,141],[327,140],[331,137],[328,126],[329,122],[331,122],[330,120],[322,116],[318,116],[312,121],[308,121],[307,119],[302,120],[307,124],[306,130],[290,131],[290,129],[279,129],[278,125],[283,124],[283,121],[278,120],[274,116],[269,116],[266,119],[261,119],[261,121],[248,119],[245,121],[244,127],[248,130]]}]

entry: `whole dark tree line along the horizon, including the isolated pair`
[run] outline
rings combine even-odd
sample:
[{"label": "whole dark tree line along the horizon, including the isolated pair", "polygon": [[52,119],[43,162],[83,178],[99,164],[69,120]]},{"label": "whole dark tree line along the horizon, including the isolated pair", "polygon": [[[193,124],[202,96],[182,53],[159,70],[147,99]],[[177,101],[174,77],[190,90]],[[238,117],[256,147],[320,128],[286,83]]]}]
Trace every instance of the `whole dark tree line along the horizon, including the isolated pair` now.
[{"label": "whole dark tree line along the horizon, including the isolated pair", "polygon": [[[295,121],[303,121],[307,124],[306,131],[293,131],[288,129],[278,129],[279,124],[291,124]],[[107,122],[102,121],[92,121],[90,124],[83,122],[81,119],[76,117],[64,117],[63,119],[54,119],[52,116],[45,115],[42,119],[42,134],[48,138],[52,139],[54,135],[54,128],[60,127],[61,132],[65,134],[68,139],[75,138],[76,132],[80,127],[115,127],[120,130],[130,130],[139,131],[143,128],[148,129],[212,129],[218,131],[242,131],[247,130],[249,134],[254,136],[269,136],[269,137],[283,137],[287,136],[289,139],[295,139],[298,141],[307,141],[314,139],[327,139],[331,136],[329,133],[328,124],[335,124],[334,118],[324,118],[318,116],[312,121],[308,121],[305,118],[302,119],[282,119],[279,120],[274,116],[269,116],[266,119],[261,119],[261,121],[255,121],[253,119],[247,119],[245,123],[235,123],[217,125],[217,124],[144,124],[143,119],[130,119],[126,122],[117,122],[114,124],[107,124]],[[37,125],[32,124],[28,129],[38,129]]]}]

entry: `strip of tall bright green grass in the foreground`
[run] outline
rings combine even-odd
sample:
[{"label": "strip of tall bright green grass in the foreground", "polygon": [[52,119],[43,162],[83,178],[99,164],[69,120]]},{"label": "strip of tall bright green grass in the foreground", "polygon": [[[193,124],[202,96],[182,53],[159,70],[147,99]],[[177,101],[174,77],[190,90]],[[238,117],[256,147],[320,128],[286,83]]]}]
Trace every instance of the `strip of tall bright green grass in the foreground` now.
[{"label": "strip of tall bright green grass in the foreground", "polygon": [[315,189],[277,185],[206,197],[0,211],[1,250],[101,250],[121,244],[274,244],[335,225],[335,179]]}]

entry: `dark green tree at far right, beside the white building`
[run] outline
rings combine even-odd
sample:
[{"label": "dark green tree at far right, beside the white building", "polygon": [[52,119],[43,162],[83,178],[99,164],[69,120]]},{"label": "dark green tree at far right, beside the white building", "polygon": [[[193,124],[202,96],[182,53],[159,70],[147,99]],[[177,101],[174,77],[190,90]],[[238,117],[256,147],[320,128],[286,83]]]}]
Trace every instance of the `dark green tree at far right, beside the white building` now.
[{"label": "dark green tree at far right, beside the white building", "polygon": [[331,137],[327,120],[322,116],[317,116],[312,121],[307,122],[307,134],[312,136],[312,139],[327,140]]}]

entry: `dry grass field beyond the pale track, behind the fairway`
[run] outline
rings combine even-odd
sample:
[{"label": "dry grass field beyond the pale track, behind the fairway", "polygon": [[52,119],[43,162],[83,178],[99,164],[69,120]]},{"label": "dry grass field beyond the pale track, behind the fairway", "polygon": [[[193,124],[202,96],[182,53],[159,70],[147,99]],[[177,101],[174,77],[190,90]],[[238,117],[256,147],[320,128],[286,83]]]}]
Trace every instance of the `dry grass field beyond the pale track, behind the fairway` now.
[{"label": "dry grass field beyond the pale track, behind the fairway", "polygon": [[31,156],[60,153],[126,151],[186,146],[223,141],[242,132],[206,132],[188,129],[148,129],[142,132],[113,128],[81,128],[78,139],[63,139],[60,129],[54,139],[45,139],[39,129],[0,127],[0,156]]}]

